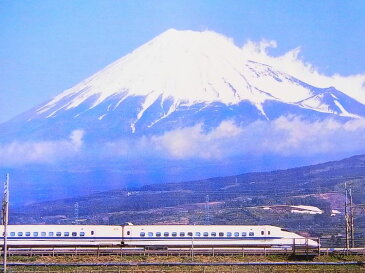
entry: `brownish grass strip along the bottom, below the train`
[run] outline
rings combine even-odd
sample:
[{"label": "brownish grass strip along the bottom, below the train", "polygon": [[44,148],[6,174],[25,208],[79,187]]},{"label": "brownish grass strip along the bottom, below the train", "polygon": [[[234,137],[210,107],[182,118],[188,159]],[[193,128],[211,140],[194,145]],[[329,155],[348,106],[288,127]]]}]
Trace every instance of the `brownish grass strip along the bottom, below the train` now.
[{"label": "brownish grass strip along the bottom, below the train", "polygon": [[[164,257],[164,256],[34,256],[34,257],[10,257],[9,262],[38,262],[38,263],[88,263],[88,262],[151,262],[151,263],[189,263],[189,262],[201,262],[201,263],[232,263],[232,262],[346,262],[346,261],[363,261],[365,262],[365,256],[318,256],[312,260],[303,260],[291,256],[195,256],[192,260],[191,257]],[[124,272],[259,272],[259,273],[273,273],[273,272],[346,272],[356,273],[365,272],[364,265],[248,265],[248,266],[98,266],[98,267],[86,267],[86,266],[37,266],[37,267],[9,267],[8,272],[78,272],[78,273],[124,273]]]}]

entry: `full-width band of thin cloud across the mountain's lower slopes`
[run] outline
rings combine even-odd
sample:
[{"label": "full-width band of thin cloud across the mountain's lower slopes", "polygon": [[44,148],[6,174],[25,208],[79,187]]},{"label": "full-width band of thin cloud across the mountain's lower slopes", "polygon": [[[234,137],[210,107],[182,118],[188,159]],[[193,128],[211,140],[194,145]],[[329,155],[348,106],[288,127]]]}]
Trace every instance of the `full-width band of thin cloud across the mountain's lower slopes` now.
[{"label": "full-width band of thin cloud across the mountain's lower slopes", "polygon": [[282,116],[247,126],[226,120],[208,132],[198,124],[160,136],[92,144],[83,143],[83,134],[78,130],[63,141],[13,142],[0,146],[0,166],[59,163],[75,158],[78,162],[92,158],[96,163],[121,160],[149,166],[158,160],[224,161],[260,156],[313,158],[365,152],[364,119],[311,122],[298,116]]}]

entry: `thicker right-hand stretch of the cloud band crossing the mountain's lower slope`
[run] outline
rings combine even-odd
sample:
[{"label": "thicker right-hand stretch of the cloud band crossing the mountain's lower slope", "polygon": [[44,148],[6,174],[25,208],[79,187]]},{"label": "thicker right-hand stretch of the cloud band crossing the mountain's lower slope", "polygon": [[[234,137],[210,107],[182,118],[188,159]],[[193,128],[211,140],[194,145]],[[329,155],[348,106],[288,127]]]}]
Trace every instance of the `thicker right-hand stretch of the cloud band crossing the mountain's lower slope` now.
[{"label": "thicker right-hand stretch of the cloud band crossing the mountain's lower slope", "polygon": [[150,147],[173,159],[213,159],[247,155],[313,156],[365,149],[365,120],[309,122],[280,117],[239,127],[224,121],[205,133],[201,125],[153,137]]}]

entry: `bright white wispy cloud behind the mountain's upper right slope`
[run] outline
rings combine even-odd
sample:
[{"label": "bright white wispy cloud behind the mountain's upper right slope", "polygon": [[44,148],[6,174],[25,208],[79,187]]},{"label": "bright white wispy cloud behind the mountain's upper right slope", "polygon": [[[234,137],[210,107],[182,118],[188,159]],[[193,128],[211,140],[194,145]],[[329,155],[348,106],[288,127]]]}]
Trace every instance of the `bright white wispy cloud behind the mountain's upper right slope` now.
[{"label": "bright white wispy cloud behind the mountain's upper right slope", "polygon": [[312,64],[300,58],[300,47],[278,57],[270,56],[268,49],[275,47],[277,47],[275,41],[263,40],[258,43],[247,41],[242,50],[248,59],[271,65],[313,86],[320,88],[333,86],[365,104],[365,74],[349,76],[340,74],[324,75]]}]

